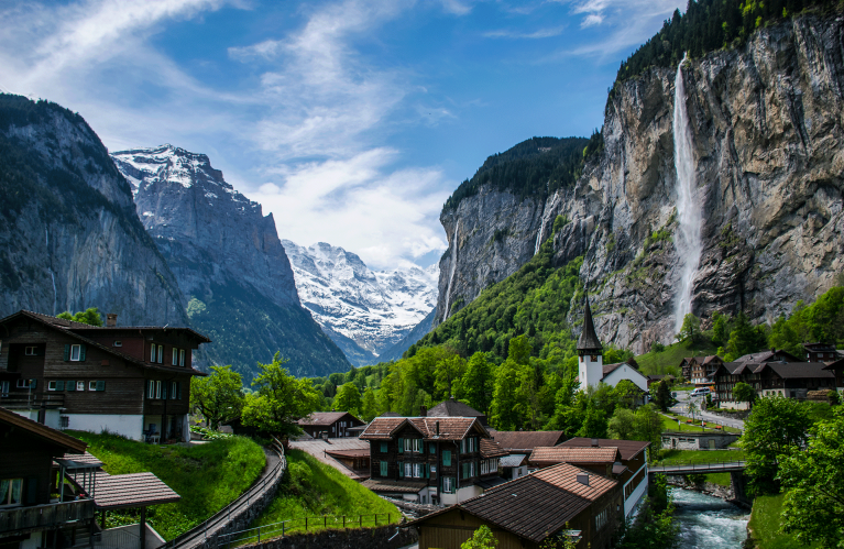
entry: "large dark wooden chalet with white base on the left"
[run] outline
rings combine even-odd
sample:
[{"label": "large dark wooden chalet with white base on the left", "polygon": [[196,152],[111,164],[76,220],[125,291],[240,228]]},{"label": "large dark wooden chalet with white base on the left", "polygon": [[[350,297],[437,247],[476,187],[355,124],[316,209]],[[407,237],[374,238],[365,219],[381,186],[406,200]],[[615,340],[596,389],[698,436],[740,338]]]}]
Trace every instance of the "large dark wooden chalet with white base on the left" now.
[{"label": "large dark wooden chalet with white base on the left", "polygon": [[189,328],[94,327],[22,310],[0,320],[0,406],[58,429],[189,440]]}]

